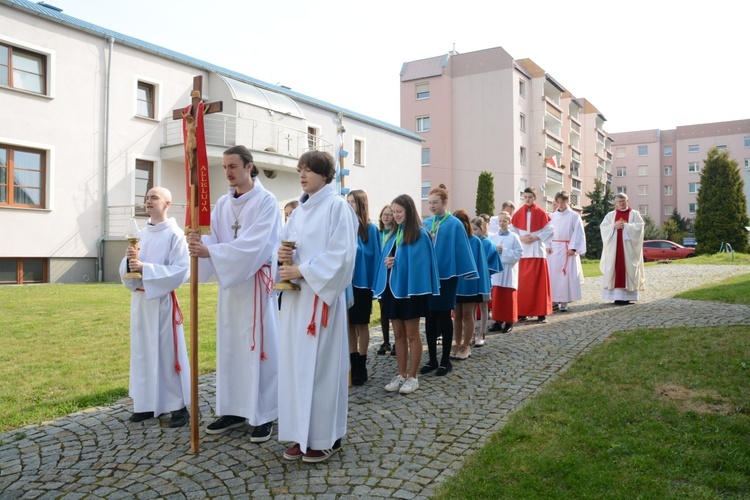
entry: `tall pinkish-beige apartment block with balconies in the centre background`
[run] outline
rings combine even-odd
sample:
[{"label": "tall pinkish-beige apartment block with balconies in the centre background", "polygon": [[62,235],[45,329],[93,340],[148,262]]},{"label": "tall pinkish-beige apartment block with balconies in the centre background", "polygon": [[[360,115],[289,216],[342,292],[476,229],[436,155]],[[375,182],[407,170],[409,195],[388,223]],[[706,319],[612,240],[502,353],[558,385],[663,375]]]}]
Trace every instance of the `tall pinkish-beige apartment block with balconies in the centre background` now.
[{"label": "tall pinkish-beige apartment block with balconies in the centre background", "polygon": [[555,193],[571,193],[580,210],[595,179],[611,180],[606,119],[531,59],[500,47],[451,52],[404,63],[401,126],[422,145],[422,215],[427,195],[444,184],[451,209],[475,212],[481,172],[493,174],[495,206],[517,205],[526,187],[552,208]]}]

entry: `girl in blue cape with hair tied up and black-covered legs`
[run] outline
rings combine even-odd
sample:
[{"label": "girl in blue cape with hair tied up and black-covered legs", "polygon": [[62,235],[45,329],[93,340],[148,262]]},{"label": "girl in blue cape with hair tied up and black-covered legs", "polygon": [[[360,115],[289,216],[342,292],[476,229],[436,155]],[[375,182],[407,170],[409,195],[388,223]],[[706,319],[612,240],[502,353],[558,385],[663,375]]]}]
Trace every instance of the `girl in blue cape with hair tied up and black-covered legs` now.
[{"label": "girl in blue cape with hair tied up and black-covered legs", "polygon": [[[430,359],[420,373],[437,370],[436,375],[447,375],[453,369],[450,346],[453,343],[451,311],[456,308],[458,278],[478,279],[477,265],[463,225],[447,211],[448,191],[443,184],[430,191],[430,212],[434,215],[424,225],[435,246],[440,276],[440,296],[430,301],[430,314],[425,318],[425,337]],[[438,364],[437,339],[443,338],[443,354]]]}]

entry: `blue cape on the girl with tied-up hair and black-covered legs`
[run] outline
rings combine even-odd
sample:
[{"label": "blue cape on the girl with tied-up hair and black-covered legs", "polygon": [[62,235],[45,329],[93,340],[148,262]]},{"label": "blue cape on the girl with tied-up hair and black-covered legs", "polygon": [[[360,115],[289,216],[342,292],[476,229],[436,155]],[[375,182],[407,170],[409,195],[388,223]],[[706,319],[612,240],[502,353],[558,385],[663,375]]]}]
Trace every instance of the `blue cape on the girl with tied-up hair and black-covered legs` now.
[{"label": "blue cape on the girl with tied-up hair and black-covered legs", "polygon": [[[424,221],[427,231],[431,230],[434,219],[433,216]],[[447,216],[437,230],[435,254],[441,280],[454,276],[461,276],[465,279],[479,277],[464,225],[453,215]]]}]

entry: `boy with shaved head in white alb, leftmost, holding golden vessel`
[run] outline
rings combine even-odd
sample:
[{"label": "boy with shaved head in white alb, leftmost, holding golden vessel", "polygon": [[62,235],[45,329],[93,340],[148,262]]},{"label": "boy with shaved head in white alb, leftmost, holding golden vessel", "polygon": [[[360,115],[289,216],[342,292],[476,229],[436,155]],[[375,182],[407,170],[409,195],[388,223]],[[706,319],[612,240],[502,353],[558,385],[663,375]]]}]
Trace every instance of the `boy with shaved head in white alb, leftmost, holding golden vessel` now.
[{"label": "boy with shaved head in white alb, leftmost, holding golden vessel", "polygon": [[[169,190],[155,187],[146,194],[148,225],[141,232],[140,250],[128,248],[120,264],[130,299],[131,422],[171,412],[170,427],[187,424],[190,414],[190,364],[182,331],[182,313],[175,289],[190,273],[185,233],[174,218]],[[124,278],[126,273],[143,277]]]}]

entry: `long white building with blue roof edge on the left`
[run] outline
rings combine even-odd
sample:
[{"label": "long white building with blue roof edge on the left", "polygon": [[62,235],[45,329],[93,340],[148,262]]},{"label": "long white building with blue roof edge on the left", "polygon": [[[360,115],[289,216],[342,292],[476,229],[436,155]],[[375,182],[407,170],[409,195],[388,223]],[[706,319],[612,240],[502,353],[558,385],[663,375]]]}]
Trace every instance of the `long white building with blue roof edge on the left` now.
[{"label": "long white building with blue roof edge on the left", "polygon": [[[211,198],[222,152],[244,144],[280,209],[300,194],[297,160],[335,154],[372,218],[401,193],[419,200],[421,138],[395,125],[65,15],[0,0],[0,283],[116,281],[127,223],[150,186],[184,221],[181,122],[195,76],[206,116]],[[398,179],[394,183],[393,179]],[[145,224],[145,218],[140,219]]]}]

